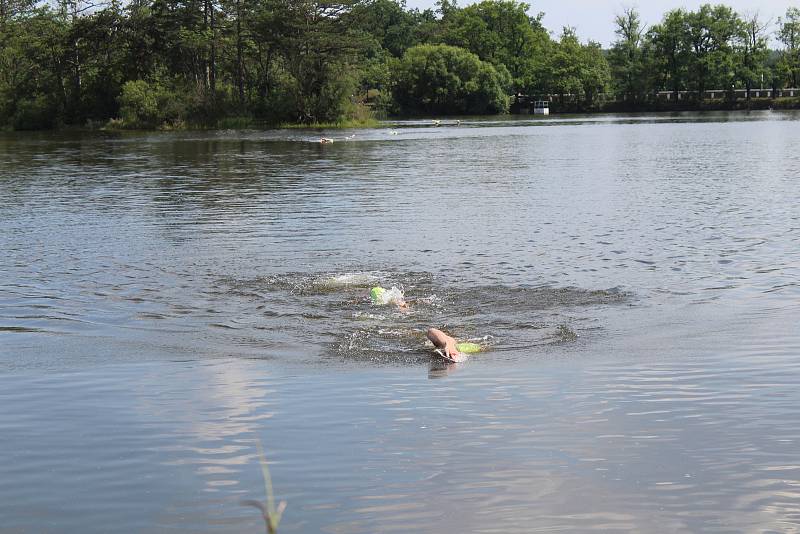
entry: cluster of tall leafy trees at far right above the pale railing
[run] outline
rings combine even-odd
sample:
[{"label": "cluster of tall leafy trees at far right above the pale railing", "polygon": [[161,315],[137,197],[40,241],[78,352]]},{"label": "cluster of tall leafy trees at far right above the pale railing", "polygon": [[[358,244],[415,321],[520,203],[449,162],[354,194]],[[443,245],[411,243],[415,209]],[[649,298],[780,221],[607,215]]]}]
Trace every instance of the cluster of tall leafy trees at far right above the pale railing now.
[{"label": "cluster of tall leafy trees at far right above the pale railing", "polygon": [[[778,21],[778,38],[786,45],[770,53],[769,24],[758,14],[740,16],[724,5],[705,4],[697,11],[676,9],[645,31],[635,10],[616,19],[618,35],[610,54],[614,88],[627,98],[642,99],[656,91],[692,91],[702,100],[706,90],[797,87],[791,77],[797,45],[788,35],[800,23],[790,9]],[[779,64],[774,58],[779,56]]]}]

